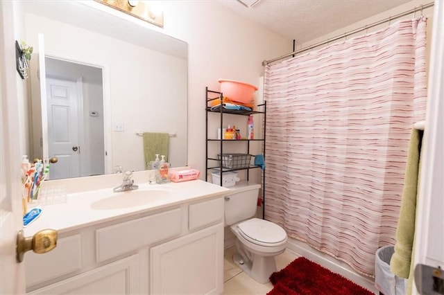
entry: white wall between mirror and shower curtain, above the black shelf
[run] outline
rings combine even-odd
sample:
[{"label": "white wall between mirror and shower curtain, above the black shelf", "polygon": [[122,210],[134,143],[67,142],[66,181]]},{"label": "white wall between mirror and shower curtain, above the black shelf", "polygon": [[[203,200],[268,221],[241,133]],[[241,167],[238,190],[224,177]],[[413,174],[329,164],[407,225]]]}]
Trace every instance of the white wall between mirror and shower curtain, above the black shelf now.
[{"label": "white wall between mirror and shower curtain, above the black shelf", "polygon": [[202,171],[203,178],[205,87],[219,90],[219,78],[257,85],[264,72],[262,61],[291,52],[293,45],[291,40],[243,19],[217,1],[160,2],[164,28],[153,29],[189,44],[188,165]]}]

